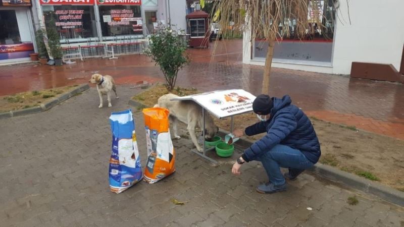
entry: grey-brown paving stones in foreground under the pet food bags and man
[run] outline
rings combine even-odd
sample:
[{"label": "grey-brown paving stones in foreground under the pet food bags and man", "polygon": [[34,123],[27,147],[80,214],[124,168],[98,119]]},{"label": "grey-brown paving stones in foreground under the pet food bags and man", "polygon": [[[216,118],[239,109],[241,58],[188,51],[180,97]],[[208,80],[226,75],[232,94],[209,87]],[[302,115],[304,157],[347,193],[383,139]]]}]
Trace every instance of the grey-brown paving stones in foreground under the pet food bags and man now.
[{"label": "grey-brown paving stones in foreground under the pet food bags and man", "polygon": [[[99,109],[94,88],[35,115],[0,120],[1,226],[404,226],[404,209],[302,174],[288,190],[255,191],[266,181],[257,162],[231,175],[174,140],[177,171],[153,185],[109,191],[111,111],[130,108],[140,89],[119,86],[120,99]],[[145,133],[134,114],[142,163]],[[359,204],[346,200],[357,196]],[[170,199],[187,201],[174,205]],[[313,210],[308,210],[311,207]]]}]

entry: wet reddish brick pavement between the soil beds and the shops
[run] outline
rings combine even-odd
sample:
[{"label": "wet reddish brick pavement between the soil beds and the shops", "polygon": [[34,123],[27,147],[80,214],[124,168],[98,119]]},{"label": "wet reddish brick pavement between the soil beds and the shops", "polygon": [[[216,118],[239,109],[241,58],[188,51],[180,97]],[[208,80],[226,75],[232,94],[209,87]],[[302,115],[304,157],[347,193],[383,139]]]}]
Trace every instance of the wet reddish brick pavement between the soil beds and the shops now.
[{"label": "wet reddish brick pavement between the soil beds and the shops", "polygon": [[[192,62],[180,71],[178,86],[201,91],[242,88],[259,94],[263,67],[243,65],[242,41],[222,41],[211,48],[188,49]],[[86,59],[61,67],[15,65],[0,67],[0,95],[86,83],[92,73],[112,75],[118,84],[146,80],[164,82],[158,66],[141,54],[118,60]],[[289,94],[308,115],[370,132],[404,139],[404,86],[274,68],[270,95]]]}]

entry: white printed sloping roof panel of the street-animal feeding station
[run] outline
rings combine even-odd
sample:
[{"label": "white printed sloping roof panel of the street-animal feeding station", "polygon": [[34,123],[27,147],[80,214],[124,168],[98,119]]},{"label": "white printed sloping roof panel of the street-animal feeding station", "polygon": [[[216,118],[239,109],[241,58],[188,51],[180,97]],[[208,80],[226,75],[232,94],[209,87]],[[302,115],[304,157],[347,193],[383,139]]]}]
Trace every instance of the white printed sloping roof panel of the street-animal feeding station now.
[{"label": "white printed sloping roof panel of the street-animal feeding station", "polygon": [[242,89],[232,89],[188,95],[172,100],[193,100],[217,118],[225,118],[252,111],[252,101],[255,98],[256,96]]}]

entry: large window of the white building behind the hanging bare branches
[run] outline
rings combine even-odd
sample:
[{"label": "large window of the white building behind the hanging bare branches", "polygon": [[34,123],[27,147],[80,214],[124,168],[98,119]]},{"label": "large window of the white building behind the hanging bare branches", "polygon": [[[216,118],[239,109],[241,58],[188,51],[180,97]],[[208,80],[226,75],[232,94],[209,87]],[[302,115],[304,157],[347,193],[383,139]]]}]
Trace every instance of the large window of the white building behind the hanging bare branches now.
[{"label": "large window of the white building behind the hanging bare branches", "polygon": [[[309,24],[305,37],[297,37],[295,34],[297,21],[294,18],[285,19],[284,23],[279,24],[279,37],[273,53],[274,63],[331,66],[335,26],[334,4],[332,1],[328,2],[328,6],[324,1],[318,1],[317,4],[316,12],[319,12],[318,17],[322,25],[316,23],[314,10],[310,10],[312,7],[309,2]],[[288,35],[285,30],[289,31]],[[256,38],[253,43],[251,60],[265,62],[268,42]]]}]

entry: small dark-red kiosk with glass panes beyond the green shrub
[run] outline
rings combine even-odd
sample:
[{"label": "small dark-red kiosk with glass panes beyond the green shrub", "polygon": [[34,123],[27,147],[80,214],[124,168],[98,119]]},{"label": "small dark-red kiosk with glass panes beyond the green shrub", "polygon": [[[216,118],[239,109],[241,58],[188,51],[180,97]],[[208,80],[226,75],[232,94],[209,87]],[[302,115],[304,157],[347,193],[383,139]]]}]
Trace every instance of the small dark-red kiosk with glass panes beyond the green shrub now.
[{"label": "small dark-red kiosk with glass panes beyond the green shrub", "polygon": [[209,14],[204,11],[194,11],[185,16],[187,22],[187,34],[190,47],[207,48],[209,46]]}]

